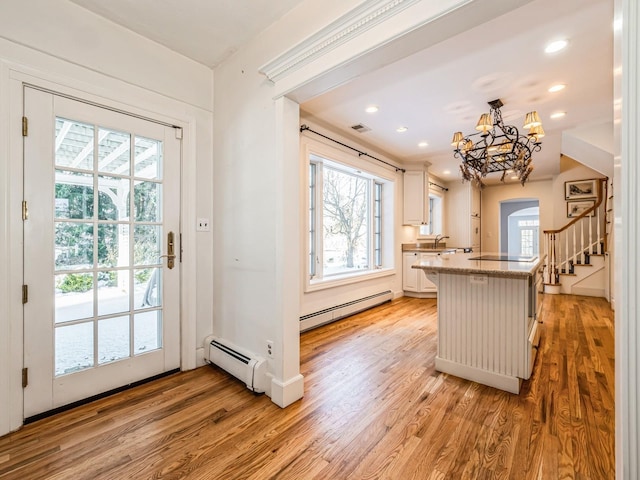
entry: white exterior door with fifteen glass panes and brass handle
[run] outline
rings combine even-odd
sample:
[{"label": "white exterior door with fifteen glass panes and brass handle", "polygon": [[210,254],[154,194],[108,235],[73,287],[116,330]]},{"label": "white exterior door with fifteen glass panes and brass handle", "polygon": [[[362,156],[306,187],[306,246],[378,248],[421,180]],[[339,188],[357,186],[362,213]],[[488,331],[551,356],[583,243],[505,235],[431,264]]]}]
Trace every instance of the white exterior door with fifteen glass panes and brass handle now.
[{"label": "white exterior door with fifteen glass panes and brass handle", "polygon": [[29,418],[180,366],[180,140],[30,87],[24,111]]}]

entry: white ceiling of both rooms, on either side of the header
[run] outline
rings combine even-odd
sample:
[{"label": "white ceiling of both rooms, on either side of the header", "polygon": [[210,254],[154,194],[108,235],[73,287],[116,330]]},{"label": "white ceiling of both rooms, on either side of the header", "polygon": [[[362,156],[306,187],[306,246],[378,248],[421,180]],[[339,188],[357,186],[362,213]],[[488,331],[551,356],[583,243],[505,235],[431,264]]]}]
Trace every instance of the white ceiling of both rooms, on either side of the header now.
[{"label": "white ceiling of both rooms, on either side of the header", "polygon": [[[210,67],[301,3],[71,1]],[[566,49],[544,53],[561,38],[569,41]],[[453,132],[472,133],[489,111],[487,102],[500,98],[505,123],[521,131],[527,112],[540,114],[546,136],[530,178],[549,178],[559,173],[563,131],[604,129],[613,137],[613,65],[613,0],[533,0],[307,101],[301,110],[397,162],[428,162],[431,173],[447,180],[459,177]],[[566,88],[549,93],[556,83]],[[378,112],[366,113],[370,105]],[[566,115],[553,120],[555,112]],[[370,130],[355,132],[351,126],[359,123]],[[400,126],[407,131],[396,132]]]}]

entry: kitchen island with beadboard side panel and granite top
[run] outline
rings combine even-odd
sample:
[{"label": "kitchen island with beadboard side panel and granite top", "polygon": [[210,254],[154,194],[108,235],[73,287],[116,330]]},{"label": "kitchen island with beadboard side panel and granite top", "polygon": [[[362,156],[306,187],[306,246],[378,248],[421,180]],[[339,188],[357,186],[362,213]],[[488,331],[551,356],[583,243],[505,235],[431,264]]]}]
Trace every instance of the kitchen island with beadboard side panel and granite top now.
[{"label": "kitchen island with beadboard side panel and granite top", "polygon": [[436,370],[511,393],[531,376],[544,257],[463,253],[423,259],[438,289]]}]

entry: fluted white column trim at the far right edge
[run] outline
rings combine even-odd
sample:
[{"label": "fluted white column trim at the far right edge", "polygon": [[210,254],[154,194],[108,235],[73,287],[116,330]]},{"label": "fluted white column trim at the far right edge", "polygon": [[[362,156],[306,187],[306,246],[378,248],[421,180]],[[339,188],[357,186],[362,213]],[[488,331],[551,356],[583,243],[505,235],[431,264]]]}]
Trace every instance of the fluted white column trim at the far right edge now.
[{"label": "fluted white column trim at the far right edge", "polygon": [[[640,475],[640,326],[638,311],[640,303],[640,278],[637,267],[640,261],[640,168],[638,155],[640,138],[640,8],[636,0],[617,0],[616,13],[621,13],[622,39],[622,122],[621,157],[618,204],[615,211],[616,276],[619,275],[615,292],[616,330],[616,478],[637,479]],[[619,34],[616,34],[619,35]],[[615,168],[615,167],[614,167]]]}]

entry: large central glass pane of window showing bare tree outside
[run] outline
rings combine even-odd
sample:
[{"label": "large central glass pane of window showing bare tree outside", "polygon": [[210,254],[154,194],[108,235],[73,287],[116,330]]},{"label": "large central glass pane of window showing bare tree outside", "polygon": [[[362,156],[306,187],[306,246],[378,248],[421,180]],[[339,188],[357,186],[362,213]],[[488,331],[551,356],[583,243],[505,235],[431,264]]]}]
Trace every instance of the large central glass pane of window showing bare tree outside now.
[{"label": "large central glass pane of window showing bare tree outside", "polygon": [[324,268],[332,273],[366,268],[369,184],[365,178],[324,168]]}]

